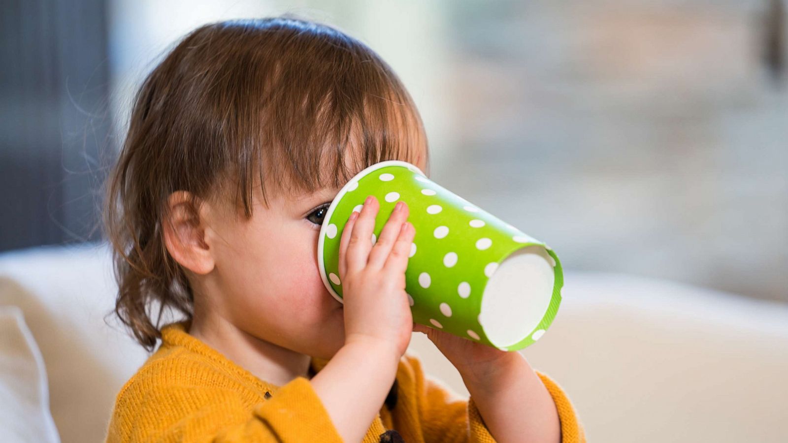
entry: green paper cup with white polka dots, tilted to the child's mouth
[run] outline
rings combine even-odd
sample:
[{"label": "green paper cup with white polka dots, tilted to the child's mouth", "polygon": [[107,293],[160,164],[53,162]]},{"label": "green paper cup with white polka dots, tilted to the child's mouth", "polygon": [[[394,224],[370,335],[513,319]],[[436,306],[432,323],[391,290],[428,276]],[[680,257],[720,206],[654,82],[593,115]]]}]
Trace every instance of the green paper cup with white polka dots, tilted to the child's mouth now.
[{"label": "green paper cup with white polka dots, tilted to the child's mouth", "polygon": [[416,234],[405,280],[414,322],[504,351],[526,348],[545,333],[561,303],[556,253],[398,160],[356,174],[325,214],[318,263],[336,300],[343,301],[342,231],[368,195],[380,203],[373,244],[398,201],[410,209]]}]

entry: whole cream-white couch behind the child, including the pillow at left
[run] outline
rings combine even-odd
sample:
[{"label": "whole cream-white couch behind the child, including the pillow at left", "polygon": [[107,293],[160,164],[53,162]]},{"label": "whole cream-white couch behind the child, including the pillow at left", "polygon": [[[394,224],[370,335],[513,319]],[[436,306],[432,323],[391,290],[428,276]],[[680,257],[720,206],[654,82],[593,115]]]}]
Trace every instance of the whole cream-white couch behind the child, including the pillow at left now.
[{"label": "whole cream-white couch behind the child, including the pillow at left", "polygon": [[[589,441],[788,441],[786,304],[623,274],[564,277],[556,320],[522,353],[567,390]],[[147,358],[104,321],[114,289],[106,244],[0,254],[2,441],[103,441],[117,391]],[[411,350],[467,396],[426,336]]]}]

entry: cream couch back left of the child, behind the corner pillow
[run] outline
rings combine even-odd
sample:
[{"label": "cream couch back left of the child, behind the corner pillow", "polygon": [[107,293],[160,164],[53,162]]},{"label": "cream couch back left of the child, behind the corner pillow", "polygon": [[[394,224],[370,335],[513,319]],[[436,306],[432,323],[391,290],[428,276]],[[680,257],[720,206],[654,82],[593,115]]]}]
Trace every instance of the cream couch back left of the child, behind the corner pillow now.
[{"label": "cream couch back left of the child, behind the corner pillow", "polygon": [[113,315],[106,244],[0,254],[0,305],[16,305],[43,354],[61,441],[103,441],[115,397],[147,357]]}]

